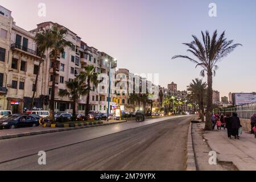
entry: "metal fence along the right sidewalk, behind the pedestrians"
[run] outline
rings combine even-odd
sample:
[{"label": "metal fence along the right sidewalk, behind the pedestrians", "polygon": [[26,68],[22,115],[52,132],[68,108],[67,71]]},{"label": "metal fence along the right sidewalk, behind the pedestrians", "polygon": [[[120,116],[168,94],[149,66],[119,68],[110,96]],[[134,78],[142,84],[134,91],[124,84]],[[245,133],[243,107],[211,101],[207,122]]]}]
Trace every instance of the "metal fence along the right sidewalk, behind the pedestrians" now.
[{"label": "metal fence along the right sidewalk, behind the pedestrians", "polygon": [[238,117],[250,119],[251,115],[256,114],[256,102],[250,104],[243,104],[235,107],[225,108],[225,109],[216,109],[214,113],[222,113],[224,115],[232,113],[237,113]]}]

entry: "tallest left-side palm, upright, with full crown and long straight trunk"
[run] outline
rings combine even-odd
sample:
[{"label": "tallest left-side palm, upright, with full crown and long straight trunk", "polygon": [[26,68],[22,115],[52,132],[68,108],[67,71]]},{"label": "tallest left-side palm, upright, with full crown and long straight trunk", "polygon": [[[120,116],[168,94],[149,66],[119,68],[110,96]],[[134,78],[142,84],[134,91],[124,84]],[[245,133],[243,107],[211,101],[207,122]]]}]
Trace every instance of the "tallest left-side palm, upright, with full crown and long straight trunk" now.
[{"label": "tallest left-side palm, upright, with full crown and long straight trunk", "polygon": [[72,47],[72,42],[65,40],[65,35],[67,35],[68,30],[66,28],[60,28],[57,26],[52,27],[50,35],[48,37],[49,48],[52,49],[50,52],[50,59],[52,60],[52,92],[51,92],[51,101],[49,104],[50,107],[50,121],[55,122],[54,119],[54,103],[55,103],[55,82],[56,82],[56,68],[57,68],[57,57],[60,54],[64,53],[66,47]]}]

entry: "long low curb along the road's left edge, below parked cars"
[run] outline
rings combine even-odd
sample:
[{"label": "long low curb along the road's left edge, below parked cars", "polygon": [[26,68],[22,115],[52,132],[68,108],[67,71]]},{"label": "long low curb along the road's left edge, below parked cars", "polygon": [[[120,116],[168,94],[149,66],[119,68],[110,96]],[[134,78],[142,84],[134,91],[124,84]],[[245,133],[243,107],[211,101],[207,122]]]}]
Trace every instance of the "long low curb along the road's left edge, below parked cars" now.
[{"label": "long low curb along the road's left edge, below parked cars", "polygon": [[3,139],[11,139],[11,138],[19,138],[19,137],[28,137],[32,135],[42,135],[42,134],[48,134],[48,133],[56,133],[56,132],[61,132],[61,131],[71,131],[71,130],[79,130],[79,129],[85,129],[89,127],[97,127],[97,126],[106,126],[106,125],[114,125],[118,123],[125,123],[126,121],[119,121],[119,122],[113,122],[113,123],[103,123],[101,125],[86,125],[86,126],[78,126],[78,127],[63,127],[61,129],[56,129],[56,130],[47,130],[47,131],[34,131],[31,133],[21,133],[21,134],[13,134],[13,135],[5,135],[1,136],[0,140]]}]

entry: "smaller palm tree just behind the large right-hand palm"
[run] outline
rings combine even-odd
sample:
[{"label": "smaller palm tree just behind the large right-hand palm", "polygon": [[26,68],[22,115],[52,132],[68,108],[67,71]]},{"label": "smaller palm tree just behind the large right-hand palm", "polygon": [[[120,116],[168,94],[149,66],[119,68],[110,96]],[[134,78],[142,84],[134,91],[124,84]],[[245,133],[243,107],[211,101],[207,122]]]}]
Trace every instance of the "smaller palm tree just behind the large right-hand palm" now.
[{"label": "smaller palm tree just behind the large right-hand palm", "polygon": [[204,98],[207,90],[207,83],[203,82],[203,79],[196,78],[192,80],[192,82],[187,86],[187,90],[189,92],[189,96],[195,99],[195,101],[199,104],[201,114],[200,118],[202,122],[204,122]]}]

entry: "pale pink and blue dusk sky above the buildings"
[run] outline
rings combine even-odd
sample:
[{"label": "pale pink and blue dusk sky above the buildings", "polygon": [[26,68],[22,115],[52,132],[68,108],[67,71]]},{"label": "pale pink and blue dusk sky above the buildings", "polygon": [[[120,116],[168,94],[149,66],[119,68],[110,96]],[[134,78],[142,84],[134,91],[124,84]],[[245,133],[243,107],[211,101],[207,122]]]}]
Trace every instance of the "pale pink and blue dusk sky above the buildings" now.
[{"label": "pale pink and blue dusk sky above the buildings", "polygon": [[[38,16],[45,3],[46,16]],[[216,3],[217,16],[209,16]],[[179,90],[200,77],[201,68],[175,55],[189,55],[182,43],[226,31],[226,38],[241,43],[218,63],[213,89],[229,92],[256,91],[256,1],[238,0],[0,0],[11,10],[16,24],[25,30],[46,21],[57,22],[76,32],[84,42],[118,60],[118,68],[132,73],[159,73],[159,84],[174,81]],[[204,78],[205,81],[206,78]]]}]

